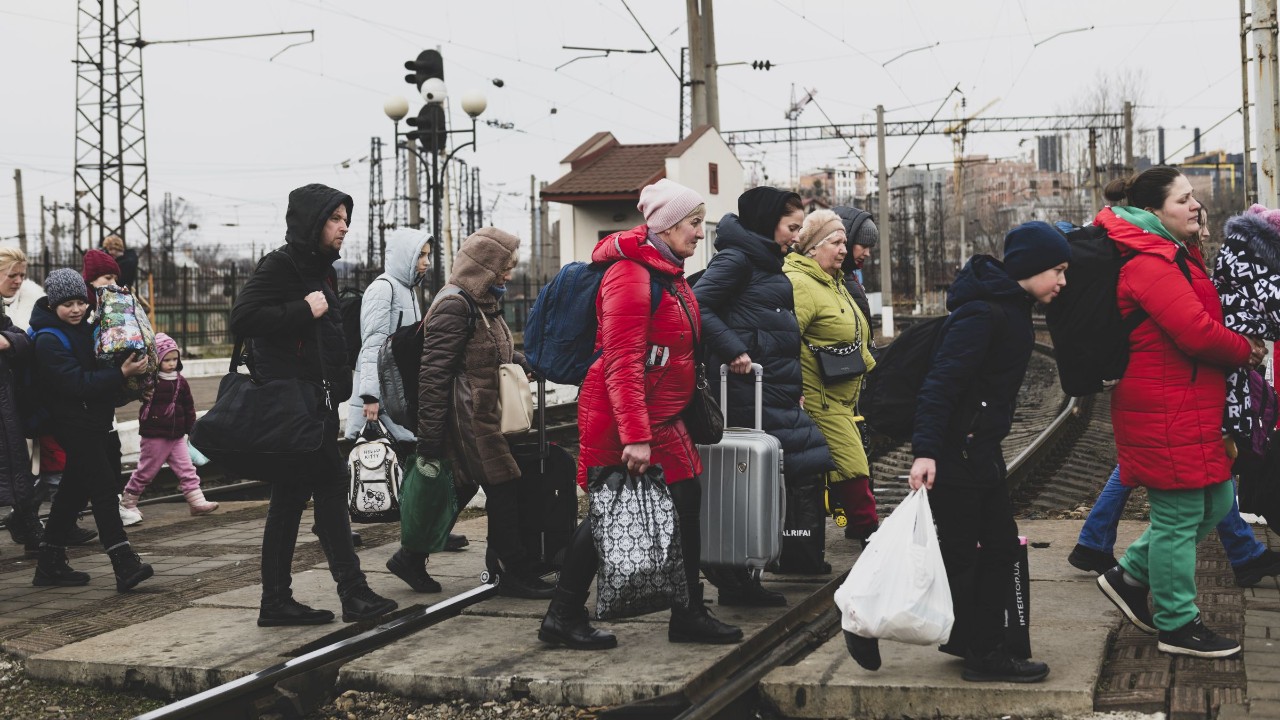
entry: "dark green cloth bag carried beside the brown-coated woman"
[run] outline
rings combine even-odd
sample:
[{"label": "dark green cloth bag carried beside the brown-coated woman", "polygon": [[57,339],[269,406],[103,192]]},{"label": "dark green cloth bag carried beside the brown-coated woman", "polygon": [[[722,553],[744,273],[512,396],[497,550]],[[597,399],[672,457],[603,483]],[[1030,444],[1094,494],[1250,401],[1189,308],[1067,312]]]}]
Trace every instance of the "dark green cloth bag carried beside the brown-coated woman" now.
[{"label": "dark green cloth bag carried beside the brown-coated woman", "polygon": [[449,461],[411,456],[401,480],[401,546],[411,552],[443,551],[457,512]]}]

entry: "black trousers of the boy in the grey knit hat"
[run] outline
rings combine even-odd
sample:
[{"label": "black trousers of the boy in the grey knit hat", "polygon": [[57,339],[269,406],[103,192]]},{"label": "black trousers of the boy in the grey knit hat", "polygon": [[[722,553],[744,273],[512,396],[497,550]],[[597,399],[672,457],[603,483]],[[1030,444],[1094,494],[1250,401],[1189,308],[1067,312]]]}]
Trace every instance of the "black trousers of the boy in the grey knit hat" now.
[{"label": "black trousers of the boy in the grey knit hat", "polygon": [[128,542],[116,497],[120,474],[114,457],[118,457],[119,436],[114,432],[55,432],[54,439],[67,452],[67,468],[49,509],[44,542],[65,547],[76,519],[90,502],[102,547],[110,550]]}]

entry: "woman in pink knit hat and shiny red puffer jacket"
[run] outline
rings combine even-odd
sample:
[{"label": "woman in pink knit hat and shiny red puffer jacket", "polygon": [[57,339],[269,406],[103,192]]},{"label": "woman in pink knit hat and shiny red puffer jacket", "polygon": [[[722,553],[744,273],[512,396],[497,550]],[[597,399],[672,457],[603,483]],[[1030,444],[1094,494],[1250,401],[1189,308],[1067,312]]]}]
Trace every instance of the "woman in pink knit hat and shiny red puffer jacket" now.
[{"label": "woman in pink knit hat and shiny red puffer jacket", "polygon": [[[596,243],[593,263],[612,263],[595,300],[600,356],[577,396],[579,483],[589,468],[626,465],[643,474],[662,466],[676,506],[689,582],[686,605],[673,605],[671,642],[732,643],[742,630],[721,623],[703,605],[698,583],[703,471],[680,411],[694,395],[694,346],[701,333],[698,300],[685,281],[685,259],[703,240],[701,196],[669,179],[640,191],[645,224]],[[657,306],[653,293],[660,292]],[[588,624],[586,602],[598,557],[591,520],[570,541],[556,594],[538,637],[575,650],[616,647],[617,638]]]}]

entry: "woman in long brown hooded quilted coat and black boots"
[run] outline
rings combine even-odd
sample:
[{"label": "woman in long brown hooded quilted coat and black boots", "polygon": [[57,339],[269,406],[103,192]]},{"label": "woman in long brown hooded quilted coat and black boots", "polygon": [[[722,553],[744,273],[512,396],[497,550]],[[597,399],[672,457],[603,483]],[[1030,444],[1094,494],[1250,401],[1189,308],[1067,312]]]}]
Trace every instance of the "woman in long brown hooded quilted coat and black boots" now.
[{"label": "woman in long brown hooded quilted coat and black boots", "polygon": [[[463,241],[449,284],[428,310],[417,380],[417,452],[453,465],[460,506],[484,488],[485,565],[500,578],[498,592],[549,598],[552,585],[535,574],[520,542],[520,468],[502,434],[498,410],[498,365],[516,363],[527,370],[500,306],[518,247],[520,238],[498,228],[476,231]],[[416,589],[413,580],[426,575],[425,562],[425,555],[401,548],[388,568]]]}]

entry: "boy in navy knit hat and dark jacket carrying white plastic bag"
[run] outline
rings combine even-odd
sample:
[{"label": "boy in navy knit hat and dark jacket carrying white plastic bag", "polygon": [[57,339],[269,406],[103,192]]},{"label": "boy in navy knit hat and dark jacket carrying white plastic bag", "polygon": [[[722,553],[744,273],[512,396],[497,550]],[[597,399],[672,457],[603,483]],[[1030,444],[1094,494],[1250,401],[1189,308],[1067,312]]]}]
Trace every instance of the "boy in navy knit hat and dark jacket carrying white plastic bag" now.
[{"label": "boy in navy knit hat and dark jacket carrying white plastic bag", "polygon": [[1041,222],[1005,236],[1004,263],[972,258],[947,293],[951,318],[915,407],[911,489],[932,491],[955,609],[948,646],[966,653],[965,680],[1036,683],[1048,675],[1048,665],[1002,646],[1018,524],[1000,443],[1036,342],[1032,305],[1057,296],[1070,259],[1062,233]]}]

